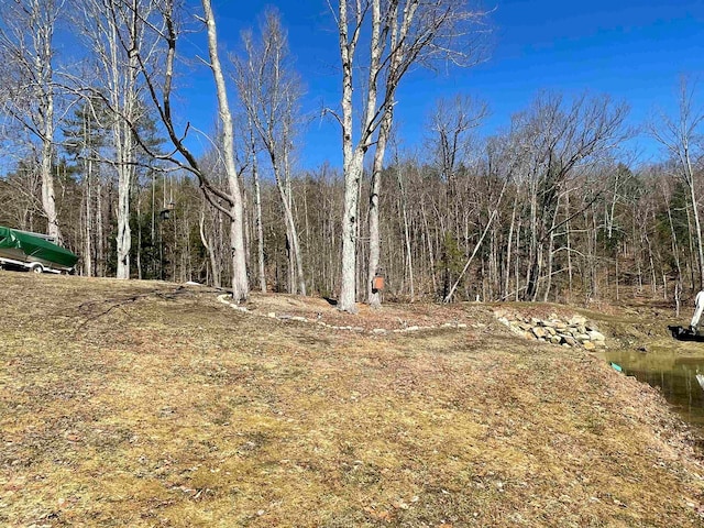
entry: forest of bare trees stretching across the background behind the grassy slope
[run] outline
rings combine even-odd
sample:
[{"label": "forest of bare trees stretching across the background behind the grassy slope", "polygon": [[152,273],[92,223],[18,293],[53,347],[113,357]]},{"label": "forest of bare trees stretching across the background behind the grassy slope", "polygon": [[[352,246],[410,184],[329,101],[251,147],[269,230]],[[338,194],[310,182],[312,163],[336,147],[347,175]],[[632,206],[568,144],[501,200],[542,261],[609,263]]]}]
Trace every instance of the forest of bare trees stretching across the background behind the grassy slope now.
[{"label": "forest of bare trees stretching across the background behind the grassy slope", "polygon": [[[320,295],[348,311],[635,295],[679,306],[702,287],[694,82],[681,81],[675,113],[638,130],[608,95],[544,91],[487,136],[486,105],[459,94],[437,101],[425,141],[408,147],[396,89],[411,67],[490,58],[490,13],[461,0],[341,0],[329,15],[340,97],[318,119],[340,125],[343,164],[304,169],[311,117],[276,11],[223,50],[209,0],[13,2],[0,14],[0,224],[55,237],[80,275],[196,280],[238,300]],[[194,33],[206,56],[189,48]],[[207,143],[193,141],[200,131],[175,96],[194,64],[218,96]],[[637,134],[661,145],[658,161],[632,155]]]}]

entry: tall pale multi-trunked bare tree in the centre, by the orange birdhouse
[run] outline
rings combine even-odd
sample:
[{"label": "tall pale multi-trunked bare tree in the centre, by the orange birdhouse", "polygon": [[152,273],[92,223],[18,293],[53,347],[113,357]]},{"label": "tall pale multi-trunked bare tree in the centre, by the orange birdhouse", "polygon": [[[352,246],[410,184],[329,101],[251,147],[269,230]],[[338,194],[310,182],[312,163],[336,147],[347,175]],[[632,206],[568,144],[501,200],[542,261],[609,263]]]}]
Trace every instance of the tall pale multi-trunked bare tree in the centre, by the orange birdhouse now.
[{"label": "tall pale multi-trunked bare tree in the centre, by the orange birdhouse", "polygon": [[[359,212],[358,201],[364,156],[377,138],[377,170],[381,175],[386,141],[393,121],[392,108],[395,92],[403,77],[414,64],[433,64],[436,61],[451,61],[462,64],[470,58],[474,62],[476,46],[469,45],[476,40],[476,23],[485,12],[472,10],[464,0],[422,2],[420,0],[340,0],[336,13],[339,32],[340,58],[342,66],[342,116],[337,116],[342,128],[342,155],[344,174],[344,213],[342,220],[342,283],[339,308],[356,311],[356,238]],[[360,67],[358,46],[360,38],[369,44],[369,56],[364,67],[367,70],[365,84],[360,86],[355,70]],[[355,88],[362,94],[359,100],[362,121],[359,138],[354,140],[353,116],[356,101],[352,94]],[[359,110],[358,109],[358,110]],[[378,222],[373,216],[378,200],[380,187],[372,185],[372,228],[377,231]],[[373,261],[377,261],[378,239],[374,240]],[[370,263],[370,276],[375,263]],[[378,300],[378,299],[377,299]]]}]

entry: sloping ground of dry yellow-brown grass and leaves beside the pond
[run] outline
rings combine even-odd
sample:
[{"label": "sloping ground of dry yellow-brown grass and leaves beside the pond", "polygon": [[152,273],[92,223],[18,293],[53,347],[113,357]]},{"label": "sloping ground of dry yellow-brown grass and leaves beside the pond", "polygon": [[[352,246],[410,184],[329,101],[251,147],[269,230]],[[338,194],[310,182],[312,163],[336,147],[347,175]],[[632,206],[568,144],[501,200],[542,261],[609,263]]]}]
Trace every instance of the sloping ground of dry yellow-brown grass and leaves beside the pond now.
[{"label": "sloping ground of dry yellow-brown grass and leaves beside the pond", "polygon": [[[2,526],[704,524],[702,452],[660,393],[493,305],[254,295],[244,314],[166,283],[0,286]],[[583,314],[609,346],[667,339],[645,302]]]}]

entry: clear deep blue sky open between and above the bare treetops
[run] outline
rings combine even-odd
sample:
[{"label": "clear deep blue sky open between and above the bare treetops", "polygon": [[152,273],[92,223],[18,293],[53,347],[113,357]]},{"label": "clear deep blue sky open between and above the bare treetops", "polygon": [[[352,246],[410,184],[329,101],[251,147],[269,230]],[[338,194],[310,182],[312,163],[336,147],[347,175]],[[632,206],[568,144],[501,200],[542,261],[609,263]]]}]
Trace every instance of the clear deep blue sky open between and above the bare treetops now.
[{"label": "clear deep blue sky open between and above the bare treetops", "polygon": [[[223,48],[235,50],[240,31],[256,28],[266,6],[278,8],[288,30],[297,69],[307,89],[305,110],[337,107],[340,82],[334,20],[324,0],[241,2],[216,0],[213,8]],[[631,107],[639,124],[653,108],[670,110],[681,74],[704,82],[704,2],[695,0],[496,0],[490,18],[493,41],[488,61],[441,74],[416,70],[404,79],[396,116],[408,146],[420,144],[424,124],[439,97],[469,94],[488,102],[492,116],[482,133],[508,125],[542,89],[565,95],[607,92]],[[215,102],[207,72],[200,70],[183,94],[188,119],[211,128]],[[202,77],[201,77],[202,76]],[[704,86],[700,90],[704,98]],[[704,101],[702,101],[704,102]],[[201,110],[201,111],[197,111]],[[641,141],[644,155],[654,151]],[[331,120],[315,120],[304,135],[301,167],[324,160],[341,163],[340,134]]]}]

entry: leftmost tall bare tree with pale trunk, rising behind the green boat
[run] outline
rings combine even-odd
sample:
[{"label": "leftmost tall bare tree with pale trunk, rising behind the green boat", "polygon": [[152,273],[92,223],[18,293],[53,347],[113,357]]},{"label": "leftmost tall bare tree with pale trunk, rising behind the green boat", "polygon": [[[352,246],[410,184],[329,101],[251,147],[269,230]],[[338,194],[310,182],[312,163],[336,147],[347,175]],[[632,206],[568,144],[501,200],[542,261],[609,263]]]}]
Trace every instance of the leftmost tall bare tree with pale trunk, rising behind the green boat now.
[{"label": "leftmost tall bare tree with pale trunk, rising behind the green boat", "polygon": [[0,12],[0,59],[11,70],[3,110],[38,140],[47,234],[62,240],[52,165],[56,129],[54,32],[63,0],[18,0]]}]

